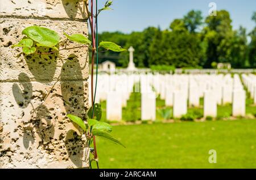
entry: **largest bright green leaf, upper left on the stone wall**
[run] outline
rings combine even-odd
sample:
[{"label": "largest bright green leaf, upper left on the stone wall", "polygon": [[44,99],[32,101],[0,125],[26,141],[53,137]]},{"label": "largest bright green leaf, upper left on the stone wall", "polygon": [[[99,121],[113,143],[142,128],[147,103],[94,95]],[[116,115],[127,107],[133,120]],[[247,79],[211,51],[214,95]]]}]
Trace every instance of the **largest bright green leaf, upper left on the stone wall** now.
[{"label": "largest bright green leaf, upper left on the stone wall", "polygon": [[22,34],[38,42],[38,46],[52,48],[60,42],[60,36],[57,32],[36,25],[32,25],[30,27],[25,28],[22,31]]}]

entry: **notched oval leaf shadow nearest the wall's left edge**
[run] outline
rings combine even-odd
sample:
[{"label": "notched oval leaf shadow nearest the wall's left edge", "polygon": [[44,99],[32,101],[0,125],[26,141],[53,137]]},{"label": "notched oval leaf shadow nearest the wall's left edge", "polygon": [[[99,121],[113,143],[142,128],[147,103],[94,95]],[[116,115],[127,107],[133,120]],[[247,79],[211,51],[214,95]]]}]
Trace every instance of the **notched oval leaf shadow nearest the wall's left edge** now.
[{"label": "notched oval leaf shadow nearest the wall's left edge", "polygon": [[13,84],[13,96],[19,107],[24,109],[27,108],[32,97],[32,83],[23,72],[19,74],[18,80],[21,86],[18,83]]}]

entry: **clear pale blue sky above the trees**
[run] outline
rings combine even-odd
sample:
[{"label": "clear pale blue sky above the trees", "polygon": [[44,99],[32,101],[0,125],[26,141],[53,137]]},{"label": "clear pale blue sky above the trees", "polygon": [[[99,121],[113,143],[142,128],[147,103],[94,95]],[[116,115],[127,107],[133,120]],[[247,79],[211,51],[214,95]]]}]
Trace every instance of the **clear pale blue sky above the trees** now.
[{"label": "clear pale blue sky above the trees", "polygon": [[[98,0],[99,6],[105,1]],[[230,12],[234,29],[242,25],[251,31],[255,27],[251,16],[256,11],[256,0],[113,0],[114,10],[104,11],[99,16],[99,32],[130,33],[149,26],[166,29],[172,20],[182,18],[192,9],[201,10],[204,17],[207,16],[210,2],[216,3],[217,10]]]}]

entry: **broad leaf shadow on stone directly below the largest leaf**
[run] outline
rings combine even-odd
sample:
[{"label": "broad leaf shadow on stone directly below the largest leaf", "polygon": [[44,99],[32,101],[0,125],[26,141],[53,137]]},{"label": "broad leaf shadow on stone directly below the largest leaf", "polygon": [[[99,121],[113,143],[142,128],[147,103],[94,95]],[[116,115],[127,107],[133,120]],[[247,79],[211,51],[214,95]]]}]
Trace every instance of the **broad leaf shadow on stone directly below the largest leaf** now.
[{"label": "broad leaf shadow on stone directly below the largest leaf", "polygon": [[57,66],[58,52],[49,53],[52,50],[49,48],[38,48],[37,54],[25,56],[27,66],[37,82],[52,82]]}]

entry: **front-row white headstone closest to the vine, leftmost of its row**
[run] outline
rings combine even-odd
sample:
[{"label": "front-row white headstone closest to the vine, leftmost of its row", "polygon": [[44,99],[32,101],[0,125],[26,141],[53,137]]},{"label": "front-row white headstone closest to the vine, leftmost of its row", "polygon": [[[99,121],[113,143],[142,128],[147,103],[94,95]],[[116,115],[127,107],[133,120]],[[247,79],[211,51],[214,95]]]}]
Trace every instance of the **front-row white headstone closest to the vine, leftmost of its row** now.
[{"label": "front-row white headstone closest to the vine, leftmost of its row", "polygon": [[108,92],[106,100],[106,118],[109,121],[122,120],[122,95],[119,92]]}]

